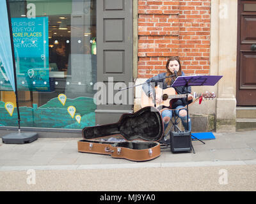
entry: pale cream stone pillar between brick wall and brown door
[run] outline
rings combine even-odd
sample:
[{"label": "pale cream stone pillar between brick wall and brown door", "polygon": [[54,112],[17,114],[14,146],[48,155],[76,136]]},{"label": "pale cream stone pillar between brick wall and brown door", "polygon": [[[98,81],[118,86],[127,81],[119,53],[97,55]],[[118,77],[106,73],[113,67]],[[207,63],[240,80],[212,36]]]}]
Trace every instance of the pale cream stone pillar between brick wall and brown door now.
[{"label": "pale cream stone pillar between brick wall and brown door", "polygon": [[216,132],[236,131],[237,0],[211,2],[211,75],[216,85]]}]

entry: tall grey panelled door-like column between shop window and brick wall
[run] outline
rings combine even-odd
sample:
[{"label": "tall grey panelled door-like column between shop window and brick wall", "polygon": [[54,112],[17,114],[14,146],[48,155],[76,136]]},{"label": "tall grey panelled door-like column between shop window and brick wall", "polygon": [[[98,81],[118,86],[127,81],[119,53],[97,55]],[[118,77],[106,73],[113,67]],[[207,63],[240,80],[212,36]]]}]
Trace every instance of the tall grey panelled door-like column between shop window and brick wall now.
[{"label": "tall grey panelled door-like column between shop window and brick wall", "polygon": [[106,85],[106,103],[97,105],[96,124],[132,112],[133,90],[118,92],[132,82],[132,0],[97,0],[97,82]]}]

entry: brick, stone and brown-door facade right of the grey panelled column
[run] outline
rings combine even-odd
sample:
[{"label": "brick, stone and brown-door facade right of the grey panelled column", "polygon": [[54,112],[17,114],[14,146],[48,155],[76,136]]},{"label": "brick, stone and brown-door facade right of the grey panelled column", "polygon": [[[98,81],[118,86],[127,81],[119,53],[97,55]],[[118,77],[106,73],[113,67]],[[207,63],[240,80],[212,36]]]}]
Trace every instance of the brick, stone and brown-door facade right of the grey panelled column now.
[{"label": "brick, stone and brown-door facade right of the grey panelled column", "polygon": [[166,59],[178,55],[187,75],[223,76],[214,87],[192,87],[216,93],[191,106],[192,129],[255,128],[255,3],[138,1],[137,80],[164,71]]}]

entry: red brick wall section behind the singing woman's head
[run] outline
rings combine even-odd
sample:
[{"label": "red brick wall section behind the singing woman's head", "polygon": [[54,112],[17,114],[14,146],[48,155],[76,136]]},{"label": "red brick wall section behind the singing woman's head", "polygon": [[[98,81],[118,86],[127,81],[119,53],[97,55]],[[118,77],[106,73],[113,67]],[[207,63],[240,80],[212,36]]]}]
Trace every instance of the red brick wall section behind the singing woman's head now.
[{"label": "red brick wall section behind the singing woman's head", "polygon": [[186,75],[209,75],[211,0],[138,0],[138,78],[180,57]]}]

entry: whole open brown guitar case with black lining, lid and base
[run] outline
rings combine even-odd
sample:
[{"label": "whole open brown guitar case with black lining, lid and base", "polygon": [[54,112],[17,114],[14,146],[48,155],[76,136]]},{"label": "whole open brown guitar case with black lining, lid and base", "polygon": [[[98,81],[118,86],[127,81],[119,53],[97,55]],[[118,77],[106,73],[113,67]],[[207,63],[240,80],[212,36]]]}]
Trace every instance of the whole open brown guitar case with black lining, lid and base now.
[{"label": "whole open brown guitar case with black lining, lid and base", "polygon": [[[135,113],[124,113],[116,123],[83,128],[83,140],[77,142],[77,149],[113,158],[148,161],[160,156],[158,141],[163,133],[161,113],[147,106]],[[122,138],[123,141],[109,142],[106,138]]]}]

